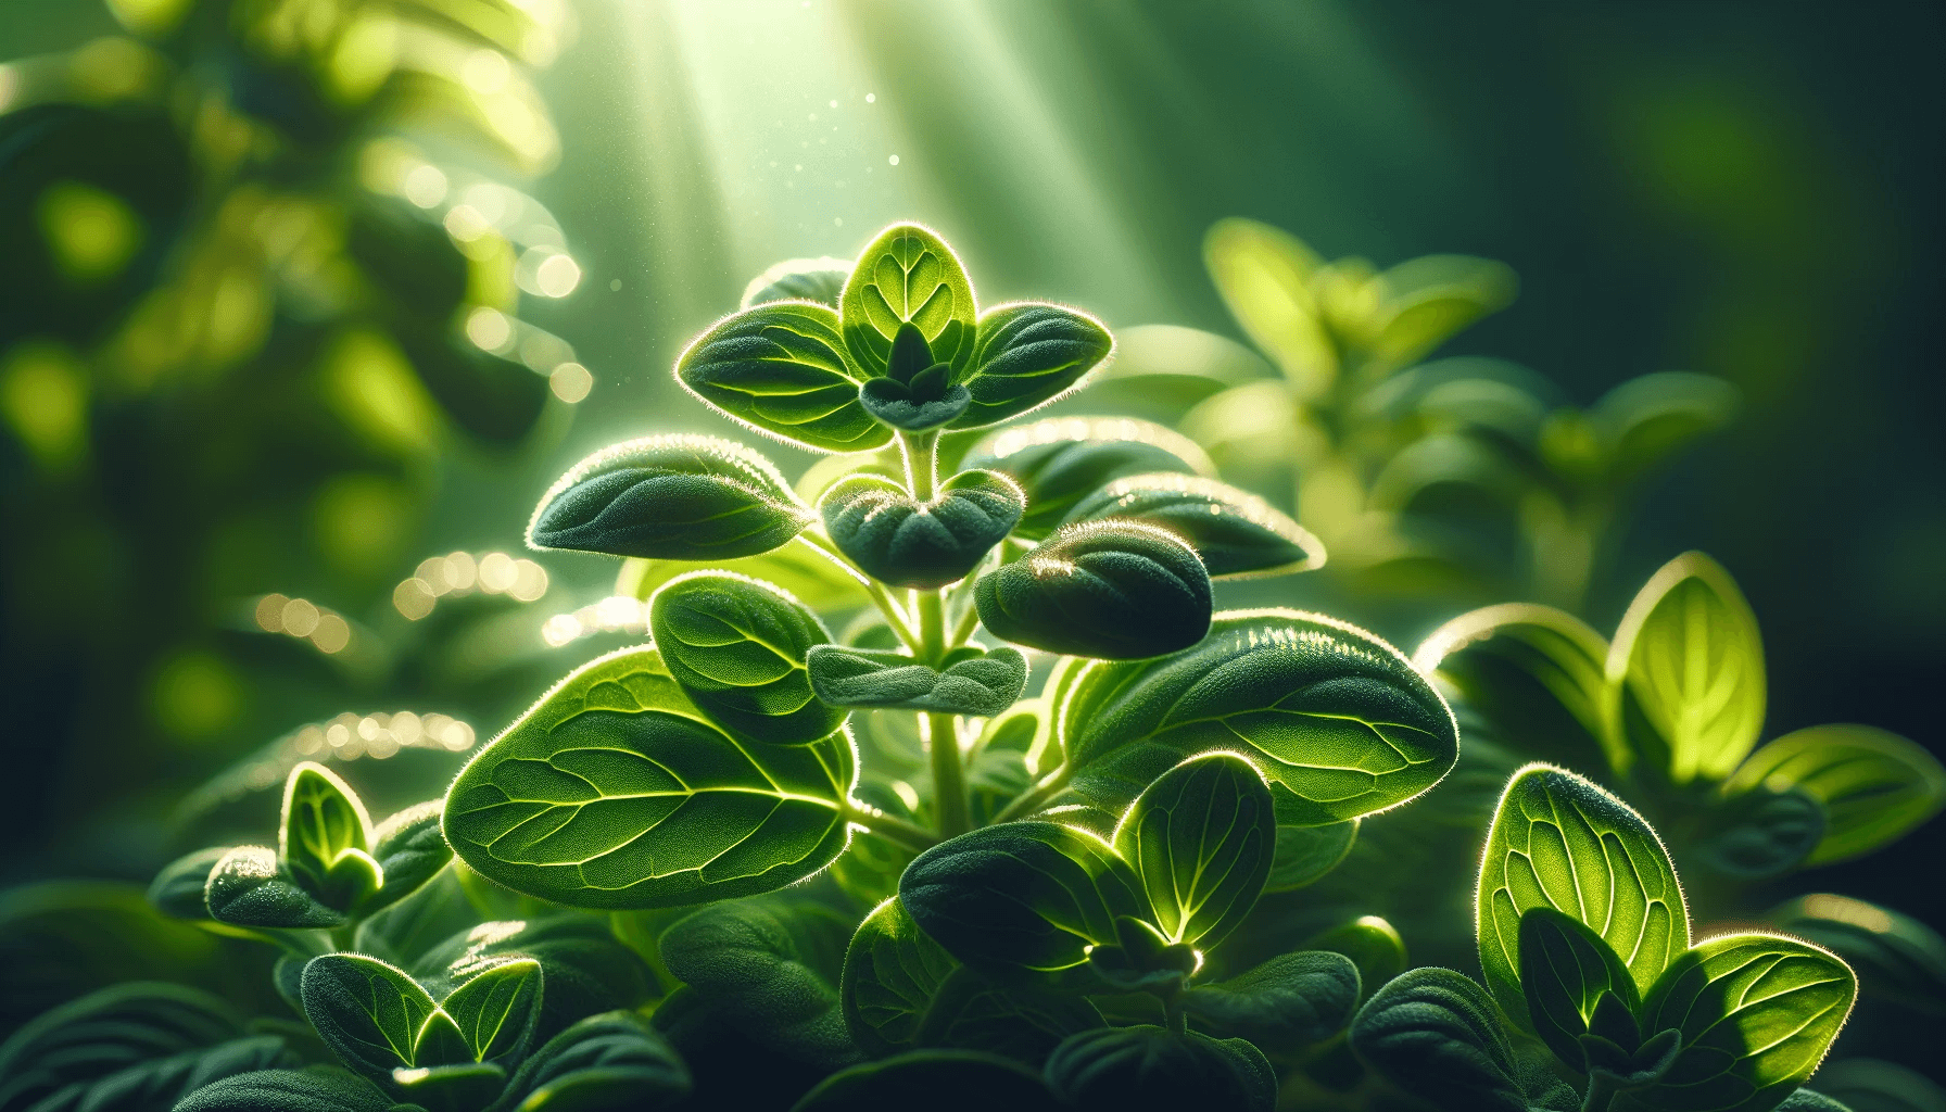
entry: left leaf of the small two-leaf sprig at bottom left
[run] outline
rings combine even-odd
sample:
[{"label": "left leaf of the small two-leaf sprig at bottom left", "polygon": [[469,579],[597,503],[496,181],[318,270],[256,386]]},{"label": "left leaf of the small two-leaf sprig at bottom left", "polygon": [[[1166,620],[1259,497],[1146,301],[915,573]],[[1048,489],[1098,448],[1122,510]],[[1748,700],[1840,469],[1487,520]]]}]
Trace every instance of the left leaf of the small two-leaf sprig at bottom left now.
[{"label": "left leaf of the small two-leaf sprig at bottom left", "polygon": [[414,1048],[438,1005],[405,970],[364,954],[321,954],[304,966],[302,991],[317,1038],[350,1069],[385,1083],[393,1069],[418,1065]]}]

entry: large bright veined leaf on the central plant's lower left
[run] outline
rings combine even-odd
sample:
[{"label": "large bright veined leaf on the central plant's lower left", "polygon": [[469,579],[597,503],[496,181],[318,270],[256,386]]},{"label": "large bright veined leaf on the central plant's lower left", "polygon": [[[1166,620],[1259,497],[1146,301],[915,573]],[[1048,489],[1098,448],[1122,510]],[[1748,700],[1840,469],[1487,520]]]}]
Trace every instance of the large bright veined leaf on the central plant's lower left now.
[{"label": "large bright veined leaf on the central plant's lower left", "polygon": [[739,744],[654,649],[592,660],[459,771],[446,841],[483,876],[586,908],[675,908],[771,892],[848,839],[856,754]]}]

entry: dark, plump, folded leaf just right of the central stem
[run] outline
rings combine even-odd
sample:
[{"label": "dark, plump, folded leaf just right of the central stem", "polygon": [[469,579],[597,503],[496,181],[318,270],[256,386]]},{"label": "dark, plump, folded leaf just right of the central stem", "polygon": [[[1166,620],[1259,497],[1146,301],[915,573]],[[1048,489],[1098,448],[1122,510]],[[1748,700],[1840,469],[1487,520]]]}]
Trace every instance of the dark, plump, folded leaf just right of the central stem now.
[{"label": "dark, plump, folded leaf just right of the central stem", "polygon": [[994,637],[1072,656],[1160,656],[1210,627],[1210,578],[1195,549],[1136,522],[1063,526],[979,576],[973,602]]}]

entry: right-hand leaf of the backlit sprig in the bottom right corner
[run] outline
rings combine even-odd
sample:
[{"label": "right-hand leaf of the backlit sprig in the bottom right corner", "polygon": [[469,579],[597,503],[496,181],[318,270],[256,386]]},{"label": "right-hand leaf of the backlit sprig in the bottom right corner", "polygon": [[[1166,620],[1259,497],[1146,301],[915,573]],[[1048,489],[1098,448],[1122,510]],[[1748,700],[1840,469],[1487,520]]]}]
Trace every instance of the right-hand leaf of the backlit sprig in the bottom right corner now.
[{"label": "right-hand leaf of the backlit sprig in the bottom right corner", "polygon": [[1642,1028],[1683,1050],[1642,1100],[1670,1112],[1769,1112],[1823,1061],[1858,980],[1825,950],[1777,935],[1722,935],[1670,962]]}]

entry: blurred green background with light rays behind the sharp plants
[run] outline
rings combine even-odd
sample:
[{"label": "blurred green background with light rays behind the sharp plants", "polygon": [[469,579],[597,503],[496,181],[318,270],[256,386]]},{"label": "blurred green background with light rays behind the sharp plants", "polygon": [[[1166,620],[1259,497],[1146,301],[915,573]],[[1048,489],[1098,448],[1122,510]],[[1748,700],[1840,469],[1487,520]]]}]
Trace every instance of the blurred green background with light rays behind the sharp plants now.
[{"label": "blurred green background with light rays behind the sharp plants", "polygon": [[[669,378],[689,337],[771,263],[845,259],[895,218],[938,226],[983,302],[1101,315],[1111,382],[1207,380],[1072,413],[1197,432],[1224,389],[1245,413],[1308,397],[1304,360],[1232,312],[1226,218],[1329,261],[1364,314],[1335,319],[1380,321],[1333,358],[1370,405],[1407,401],[1386,436],[1452,432],[1421,405],[1452,380],[1533,399],[1516,434],[1460,430],[1551,508],[1448,500],[1526,522],[1465,551],[1438,514],[1356,543],[1366,506],[1421,497],[1380,481],[1397,442],[1349,436],[1356,499],[1333,500],[1298,440],[1222,460],[1234,423],[1205,409],[1220,462],[1333,543],[1333,575],[1230,602],[1407,649],[1508,598],[1607,629],[1699,547],[1761,617],[1767,734],[1870,721],[1940,752],[1942,41],[1903,4],[0,6],[0,721],[31,777],[0,810],[8,880],[142,878],[179,800],[226,822],[296,754],[397,756],[346,761],[379,810],[436,793],[640,633],[611,565],[512,549],[533,497],[611,440],[720,432]],[[1428,255],[1446,269],[1370,284]],[[1428,286],[1473,310],[1387,347],[1386,290]],[[1662,467],[1602,440],[1644,374],[1712,430]],[[1520,547],[1535,520],[1580,530],[1578,571]],[[1421,549],[1458,559],[1354,575]],[[1796,886],[1940,925],[1911,876],[1942,851],[1932,824]]]}]

